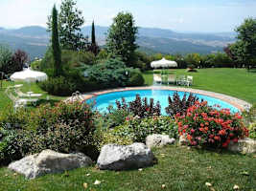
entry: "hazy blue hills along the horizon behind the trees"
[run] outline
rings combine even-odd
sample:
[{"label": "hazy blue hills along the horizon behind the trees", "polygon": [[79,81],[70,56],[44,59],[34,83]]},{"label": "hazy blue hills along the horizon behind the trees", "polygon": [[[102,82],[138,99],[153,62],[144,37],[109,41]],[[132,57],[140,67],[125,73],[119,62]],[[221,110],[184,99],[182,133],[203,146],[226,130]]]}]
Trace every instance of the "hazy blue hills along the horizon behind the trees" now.
[{"label": "hazy blue hills along the horizon behind the trees", "polygon": [[[96,26],[96,39],[105,45],[108,27]],[[84,35],[90,36],[91,27],[81,28]],[[155,28],[139,28],[137,43],[146,53],[214,53],[222,51],[228,43],[235,41],[235,32],[200,33],[174,32]],[[39,26],[23,27],[17,30],[0,28],[0,43],[15,49],[22,49],[32,59],[42,57],[49,44],[50,33]]]}]

